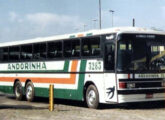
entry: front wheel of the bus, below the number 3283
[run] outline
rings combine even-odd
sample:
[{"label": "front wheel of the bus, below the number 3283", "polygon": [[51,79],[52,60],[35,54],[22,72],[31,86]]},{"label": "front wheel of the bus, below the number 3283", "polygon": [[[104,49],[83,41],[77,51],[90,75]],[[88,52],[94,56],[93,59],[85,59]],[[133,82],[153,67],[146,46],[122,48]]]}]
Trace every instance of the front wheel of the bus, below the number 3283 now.
[{"label": "front wheel of the bus, below the number 3283", "polygon": [[86,91],[86,104],[89,108],[97,109],[99,106],[99,93],[94,85],[90,85]]}]

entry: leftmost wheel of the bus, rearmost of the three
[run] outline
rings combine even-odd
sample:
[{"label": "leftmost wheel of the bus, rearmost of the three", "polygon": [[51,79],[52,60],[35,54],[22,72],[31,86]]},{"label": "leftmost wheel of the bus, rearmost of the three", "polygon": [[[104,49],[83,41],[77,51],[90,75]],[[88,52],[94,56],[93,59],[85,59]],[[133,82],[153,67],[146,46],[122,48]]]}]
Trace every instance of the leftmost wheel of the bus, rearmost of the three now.
[{"label": "leftmost wheel of the bus, rearmost of the three", "polygon": [[23,89],[22,89],[22,84],[20,81],[17,81],[14,85],[14,94],[15,94],[16,100],[23,99]]}]

